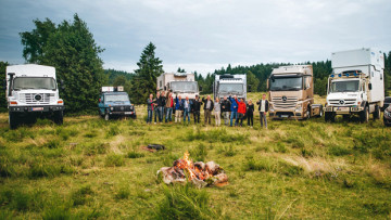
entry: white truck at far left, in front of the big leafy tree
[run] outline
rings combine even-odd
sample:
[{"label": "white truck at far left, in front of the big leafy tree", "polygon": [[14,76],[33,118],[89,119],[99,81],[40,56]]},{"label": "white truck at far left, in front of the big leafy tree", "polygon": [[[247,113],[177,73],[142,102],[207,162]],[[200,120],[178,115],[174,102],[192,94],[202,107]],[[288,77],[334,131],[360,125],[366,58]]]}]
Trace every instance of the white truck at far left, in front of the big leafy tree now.
[{"label": "white truck at far left, in front of the big leafy tree", "polygon": [[9,124],[11,129],[37,117],[50,117],[63,122],[64,101],[59,96],[55,68],[36,64],[7,67]]}]

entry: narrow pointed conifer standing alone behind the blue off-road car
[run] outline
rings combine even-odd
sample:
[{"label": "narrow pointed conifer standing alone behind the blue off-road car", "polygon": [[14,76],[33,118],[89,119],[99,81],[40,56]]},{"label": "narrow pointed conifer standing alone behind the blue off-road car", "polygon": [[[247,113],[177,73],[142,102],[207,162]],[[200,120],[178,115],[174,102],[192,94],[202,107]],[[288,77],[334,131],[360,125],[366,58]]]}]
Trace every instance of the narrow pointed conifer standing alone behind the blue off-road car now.
[{"label": "narrow pointed conifer standing alone behind the blue off-road car", "polygon": [[150,93],[156,91],[156,78],[164,73],[162,61],[155,57],[156,47],[150,42],[141,53],[137,63],[138,69],[131,81],[130,96],[136,104],[144,103]]}]

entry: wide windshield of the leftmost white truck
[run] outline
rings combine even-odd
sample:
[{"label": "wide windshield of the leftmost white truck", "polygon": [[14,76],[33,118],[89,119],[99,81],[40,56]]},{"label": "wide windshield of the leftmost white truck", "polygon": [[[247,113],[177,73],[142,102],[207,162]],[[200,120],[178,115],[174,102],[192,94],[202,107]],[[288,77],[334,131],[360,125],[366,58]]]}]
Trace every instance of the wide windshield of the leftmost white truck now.
[{"label": "wide windshield of the leftmost white truck", "polygon": [[50,77],[16,77],[13,80],[14,90],[23,89],[49,89],[55,90],[55,80]]}]

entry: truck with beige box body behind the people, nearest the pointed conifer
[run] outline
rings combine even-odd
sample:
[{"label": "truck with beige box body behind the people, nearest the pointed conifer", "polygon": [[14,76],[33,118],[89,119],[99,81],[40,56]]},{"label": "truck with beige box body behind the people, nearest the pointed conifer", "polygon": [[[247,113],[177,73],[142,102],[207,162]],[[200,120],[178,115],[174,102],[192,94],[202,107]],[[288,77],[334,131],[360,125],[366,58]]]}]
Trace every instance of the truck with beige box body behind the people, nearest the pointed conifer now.
[{"label": "truck with beige box body behind the people, nearest the pointed conifer", "polygon": [[188,96],[194,100],[195,95],[200,95],[194,74],[164,73],[157,77],[156,85],[157,90],[173,91],[175,95],[180,95],[182,99]]}]

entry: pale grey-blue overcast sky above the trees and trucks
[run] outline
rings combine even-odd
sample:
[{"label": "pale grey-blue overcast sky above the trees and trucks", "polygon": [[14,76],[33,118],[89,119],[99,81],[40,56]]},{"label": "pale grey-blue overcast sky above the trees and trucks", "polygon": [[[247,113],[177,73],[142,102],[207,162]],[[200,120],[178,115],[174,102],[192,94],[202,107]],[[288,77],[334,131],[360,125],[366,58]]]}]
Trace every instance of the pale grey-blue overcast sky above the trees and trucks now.
[{"label": "pale grey-blue overcast sky above the trees and trucks", "polygon": [[333,51],[391,50],[390,0],[0,0],[0,61],[25,63],[18,33],[77,13],[104,68],[134,72],[152,41],[164,70],[325,61]]}]

